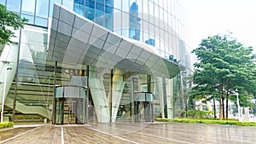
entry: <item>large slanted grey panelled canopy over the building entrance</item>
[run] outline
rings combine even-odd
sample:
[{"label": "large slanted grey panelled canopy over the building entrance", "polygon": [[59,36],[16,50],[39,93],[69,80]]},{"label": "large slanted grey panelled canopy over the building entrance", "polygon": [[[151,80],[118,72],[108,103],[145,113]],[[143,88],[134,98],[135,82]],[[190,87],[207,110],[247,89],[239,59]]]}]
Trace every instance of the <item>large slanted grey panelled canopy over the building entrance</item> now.
[{"label": "large slanted grey panelled canopy over the building entrance", "polygon": [[162,58],[153,46],[121,37],[56,3],[49,31],[48,60],[162,78],[179,72],[177,63]]}]

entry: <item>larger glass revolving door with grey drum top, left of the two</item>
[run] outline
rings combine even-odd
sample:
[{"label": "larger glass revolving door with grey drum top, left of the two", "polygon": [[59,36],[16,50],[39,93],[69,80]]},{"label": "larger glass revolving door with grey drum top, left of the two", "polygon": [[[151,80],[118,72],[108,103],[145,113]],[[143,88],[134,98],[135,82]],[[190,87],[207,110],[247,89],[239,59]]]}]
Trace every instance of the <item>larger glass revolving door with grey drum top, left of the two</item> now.
[{"label": "larger glass revolving door with grey drum top, left of the two", "polygon": [[84,124],[85,94],[84,87],[56,87],[55,124]]}]

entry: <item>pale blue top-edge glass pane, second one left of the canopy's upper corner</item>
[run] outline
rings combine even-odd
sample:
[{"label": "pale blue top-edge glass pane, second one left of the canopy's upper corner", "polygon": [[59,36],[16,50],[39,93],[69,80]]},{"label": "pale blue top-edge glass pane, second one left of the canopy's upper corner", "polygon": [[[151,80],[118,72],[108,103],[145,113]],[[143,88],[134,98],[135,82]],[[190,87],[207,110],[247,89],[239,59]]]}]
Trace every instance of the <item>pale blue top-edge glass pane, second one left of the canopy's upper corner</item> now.
[{"label": "pale blue top-edge glass pane, second one left of the canopy's upper corner", "polygon": [[35,12],[35,3],[36,0],[23,0],[21,13],[33,15]]}]

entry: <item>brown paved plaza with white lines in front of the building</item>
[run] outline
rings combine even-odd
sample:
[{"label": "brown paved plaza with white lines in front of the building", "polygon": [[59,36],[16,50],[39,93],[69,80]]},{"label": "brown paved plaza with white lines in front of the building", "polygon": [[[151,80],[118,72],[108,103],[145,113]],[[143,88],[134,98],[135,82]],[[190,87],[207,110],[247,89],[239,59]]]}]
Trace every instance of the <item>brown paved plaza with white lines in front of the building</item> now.
[{"label": "brown paved plaza with white lines in front of the building", "polygon": [[0,131],[0,144],[222,143],[253,144],[256,127],[182,123],[35,125]]}]

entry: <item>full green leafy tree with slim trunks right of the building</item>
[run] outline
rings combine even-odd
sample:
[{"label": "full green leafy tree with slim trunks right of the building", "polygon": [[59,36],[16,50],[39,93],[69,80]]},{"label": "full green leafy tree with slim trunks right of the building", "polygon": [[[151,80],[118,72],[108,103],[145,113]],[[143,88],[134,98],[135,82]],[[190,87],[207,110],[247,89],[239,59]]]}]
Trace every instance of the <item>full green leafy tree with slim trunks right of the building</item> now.
[{"label": "full green leafy tree with slim trunks right of the building", "polygon": [[[194,65],[195,86],[218,90],[220,119],[224,116],[224,95],[229,99],[230,93],[235,89],[247,91],[247,95],[252,95],[255,89],[255,55],[252,47],[244,47],[236,38],[230,37],[230,34],[216,35],[203,39],[199,48],[194,49],[192,53],[195,53],[199,61]],[[244,96],[246,97],[248,96]]]}]

